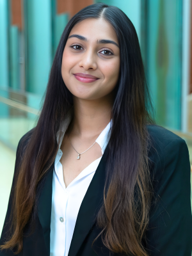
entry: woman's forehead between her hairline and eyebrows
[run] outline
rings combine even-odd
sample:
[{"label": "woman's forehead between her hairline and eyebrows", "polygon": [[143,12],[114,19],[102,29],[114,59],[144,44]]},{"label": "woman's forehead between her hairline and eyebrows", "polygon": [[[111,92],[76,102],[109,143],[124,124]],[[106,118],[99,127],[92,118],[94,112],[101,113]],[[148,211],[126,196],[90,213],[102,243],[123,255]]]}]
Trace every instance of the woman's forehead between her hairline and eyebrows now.
[{"label": "woman's forehead between her hairline and eyebrows", "polygon": [[84,36],[88,40],[108,39],[118,43],[115,29],[107,20],[102,18],[82,20],[72,28],[69,36],[73,34]]}]

